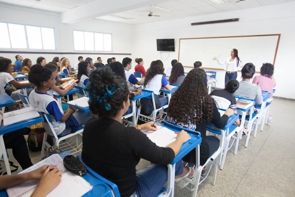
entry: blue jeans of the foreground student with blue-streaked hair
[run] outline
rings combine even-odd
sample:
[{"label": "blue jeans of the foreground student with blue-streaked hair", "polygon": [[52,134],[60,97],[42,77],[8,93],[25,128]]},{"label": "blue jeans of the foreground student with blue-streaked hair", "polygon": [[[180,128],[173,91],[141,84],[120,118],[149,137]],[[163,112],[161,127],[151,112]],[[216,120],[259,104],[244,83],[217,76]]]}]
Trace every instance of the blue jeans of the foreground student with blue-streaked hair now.
[{"label": "blue jeans of the foreground student with blue-streaked hair", "polygon": [[[175,176],[183,173],[182,160],[175,164]],[[136,190],[134,195],[140,197],[157,196],[168,179],[167,166],[151,164],[136,172]],[[173,183],[174,184],[174,183]]]}]

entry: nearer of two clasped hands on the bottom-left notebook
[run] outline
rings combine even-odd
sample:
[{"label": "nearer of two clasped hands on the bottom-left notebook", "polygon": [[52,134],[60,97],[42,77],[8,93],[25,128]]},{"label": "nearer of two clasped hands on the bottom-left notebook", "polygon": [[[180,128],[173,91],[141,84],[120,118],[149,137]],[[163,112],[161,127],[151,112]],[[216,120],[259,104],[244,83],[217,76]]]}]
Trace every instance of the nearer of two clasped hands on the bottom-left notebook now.
[{"label": "nearer of two clasped hands on the bottom-left notebook", "polygon": [[49,172],[49,168],[47,168],[31,197],[46,196],[50,191],[57,187],[59,183],[61,183],[61,174],[63,172],[64,171],[59,170],[58,168]]}]

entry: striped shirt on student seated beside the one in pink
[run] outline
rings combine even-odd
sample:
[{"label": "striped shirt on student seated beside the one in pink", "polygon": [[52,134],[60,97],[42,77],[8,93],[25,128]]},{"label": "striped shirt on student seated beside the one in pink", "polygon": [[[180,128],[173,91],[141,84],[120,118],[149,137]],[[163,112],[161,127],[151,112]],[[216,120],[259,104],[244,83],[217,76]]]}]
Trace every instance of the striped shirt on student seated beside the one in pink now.
[{"label": "striped shirt on student seated beside the one in pink", "polygon": [[[260,105],[263,101],[261,89],[257,84],[253,84],[250,81],[239,82],[239,88],[234,92],[234,96],[243,97],[255,100],[256,104]],[[253,110],[254,110],[253,106]],[[238,114],[242,115],[242,111],[238,110]],[[250,110],[247,111],[246,115],[250,115]]]}]

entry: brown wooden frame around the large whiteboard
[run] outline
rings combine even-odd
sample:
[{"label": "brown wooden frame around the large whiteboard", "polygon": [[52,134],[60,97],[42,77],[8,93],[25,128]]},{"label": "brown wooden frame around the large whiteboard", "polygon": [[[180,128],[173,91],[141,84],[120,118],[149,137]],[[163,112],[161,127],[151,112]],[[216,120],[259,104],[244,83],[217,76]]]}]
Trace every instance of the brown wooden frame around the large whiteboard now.
[{"label": "brown wooden frame around the large whiteboard", "polygon": [[[260,36],[277,36],[277,47],[276,52],[273,58],[273,66],[276,62],[277,58],[277,49],[279,48],[279,43],[281,39],[281,34],[262,34],[262,35],[246,35],[246,36],[219,36],[219,37],[203,37],[203,38],[179,38],[179,47],[178,47],[178,62],[179,62],[179,54],[180,54],[180,43],[181,40],[190,40],[190,39],[209,39],[209,38],[242,38],[242,37],[260,37]],[[185,68],[194,68],[194,66],[183,66]],[[222,68],[209,68],[209,67],[202,67],[203,69],[210,69],[210,70],[224,70]],[[238,71],[240,72],[240,70]],[[255,73],[260,73],[260,71],[256,71]]]}]

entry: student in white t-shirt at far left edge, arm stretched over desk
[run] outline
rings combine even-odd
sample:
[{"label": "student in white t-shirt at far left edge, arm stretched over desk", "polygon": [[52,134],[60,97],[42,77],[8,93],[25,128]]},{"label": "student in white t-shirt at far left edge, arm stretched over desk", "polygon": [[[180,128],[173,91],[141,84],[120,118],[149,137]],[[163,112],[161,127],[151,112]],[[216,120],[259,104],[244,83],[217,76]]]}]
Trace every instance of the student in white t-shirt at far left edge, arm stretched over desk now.
[{"label": "student in white t-shirt at far left edge, arm stretched over desk", "polygon": [[[31,83],[18,82],[10,75],[12,72],[13,66],[11,64],[11,60],[8,58],[0,58],[0,94],[6,93],[12,98],[12,100],[18,101],[20,100],[18,93],[20,92],[23,94],[23,90],[16,90],[13,86],[22,88],[24,86],[31,85]],[[33,88],[27,88],[27,93],[29,94],[32,90]]]}]

